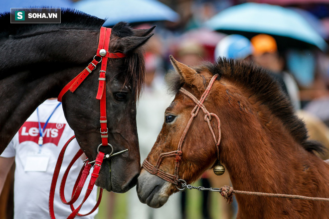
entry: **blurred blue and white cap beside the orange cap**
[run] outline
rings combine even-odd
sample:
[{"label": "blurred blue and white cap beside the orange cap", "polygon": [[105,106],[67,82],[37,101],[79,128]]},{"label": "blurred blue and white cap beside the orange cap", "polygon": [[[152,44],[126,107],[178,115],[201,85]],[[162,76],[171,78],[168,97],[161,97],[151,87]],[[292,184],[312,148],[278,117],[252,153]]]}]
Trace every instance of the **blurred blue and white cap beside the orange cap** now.
[{"label": "blurred blue and white cap beside the orange cap", "polygon": [[238,34],[225,36],[215,48],[215,58],[226,57],[245,59],[252,54],[253,47],[249,39]]}]

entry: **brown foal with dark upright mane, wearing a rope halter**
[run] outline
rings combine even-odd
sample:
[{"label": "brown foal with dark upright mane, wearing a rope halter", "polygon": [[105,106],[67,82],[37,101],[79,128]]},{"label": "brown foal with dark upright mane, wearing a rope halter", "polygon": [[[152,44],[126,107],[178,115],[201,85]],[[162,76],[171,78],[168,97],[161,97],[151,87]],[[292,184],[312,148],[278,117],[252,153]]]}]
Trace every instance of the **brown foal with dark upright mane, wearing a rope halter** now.
[{"label": "brown foal with dark upright mane, wearing a rope halter", "polygon": [[[191,68],[170,59],[176,72],[168,81],[175,99],[165,111],[165,123],[147,157],[148,163],[155,166],[160,154],[177,150],[196,105],[181,91],[200,100],[210,79],[218,75],[203,105],[220,119],[219,161],[226,167],[233,188],[329,198],[329,165],[314,153],[321,152],[323,146],[308,139],[303,121],[265,70],[226,59]],[[214,116],[210,123],[219,138]],[[175,175],[176,159],[177,156],[167,156],[159,169],[142,169],[137,187],[141,202],[159,208],[178,191],[179,181],[165,181],[159,174]],[[217,162],[214,138],[205,113],[199,110],[181,146],[177,177],[191,183]],[[235,197],[239,219],[329,218],[328,202],[239,194]]]}]

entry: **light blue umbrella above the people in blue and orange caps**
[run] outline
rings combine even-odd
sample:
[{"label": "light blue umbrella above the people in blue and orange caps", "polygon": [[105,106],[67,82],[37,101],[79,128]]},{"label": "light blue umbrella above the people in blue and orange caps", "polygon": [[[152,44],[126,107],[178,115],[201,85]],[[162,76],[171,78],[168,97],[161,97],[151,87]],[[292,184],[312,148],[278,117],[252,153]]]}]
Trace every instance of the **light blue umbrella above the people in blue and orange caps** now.
[{"label": "light blue umbrella above the people in blue and orange caps", "polygon": [[222,10],[205,25],[211,29],[252,37],[258,33],[273,35],[278,46],[316,46],[327,49],[325,40],[296,11],[277,5],[244,3]]}]

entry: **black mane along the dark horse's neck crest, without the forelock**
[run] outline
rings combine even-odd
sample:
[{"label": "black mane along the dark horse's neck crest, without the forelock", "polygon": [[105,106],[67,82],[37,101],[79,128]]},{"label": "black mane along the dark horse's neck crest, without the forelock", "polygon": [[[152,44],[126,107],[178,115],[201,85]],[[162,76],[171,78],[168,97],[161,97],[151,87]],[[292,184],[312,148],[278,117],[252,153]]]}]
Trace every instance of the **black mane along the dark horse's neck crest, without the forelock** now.
[{"label": "black mane along the dark horse's neck crest, without the forelock", "polygon": [[[35,8],[31,8],[35,10]],[[28,9],[24,9],[28,12]],[[23,37],[33,35],[38,32],[51,32],[58,29],[90,29],[99,30],[105,20],[86,14],[84,12],[62,8],[61,23],[14,23],[10,24],[10,12],[0,14],[0,39],[13,37]]]}]

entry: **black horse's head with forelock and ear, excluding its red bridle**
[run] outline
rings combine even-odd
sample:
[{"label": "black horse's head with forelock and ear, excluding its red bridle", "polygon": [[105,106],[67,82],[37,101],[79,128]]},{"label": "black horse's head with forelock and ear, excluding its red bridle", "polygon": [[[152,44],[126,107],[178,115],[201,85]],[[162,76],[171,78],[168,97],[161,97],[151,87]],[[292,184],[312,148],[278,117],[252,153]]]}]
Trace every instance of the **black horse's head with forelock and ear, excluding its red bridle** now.
[{"label": "black horse's head with forelock and ear, excluding its red bridle", "polygon": [[[121,52],[126,57],[109,59],[107,64],[108,142],[114,148],[113,153],[128,151],[104,160],[96,185],[108,191],[128,191],[136,185],[140,173],[136,101],[144,84],[145,63],[141,46],[153,35],[150,34],[153,29],[134,30],[125,22],[112,29],[109,52]],[[67,121],[89,161],[95,160],[97,147],[102,143],[100,101],[96,99],[100,66],[101,63],[74,93],[67,92],[62,99]],[[111,150],[109,146],[100,147],[105,154]]]}]

